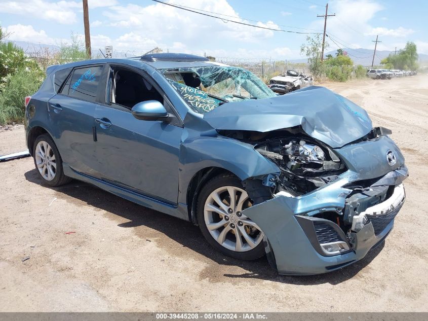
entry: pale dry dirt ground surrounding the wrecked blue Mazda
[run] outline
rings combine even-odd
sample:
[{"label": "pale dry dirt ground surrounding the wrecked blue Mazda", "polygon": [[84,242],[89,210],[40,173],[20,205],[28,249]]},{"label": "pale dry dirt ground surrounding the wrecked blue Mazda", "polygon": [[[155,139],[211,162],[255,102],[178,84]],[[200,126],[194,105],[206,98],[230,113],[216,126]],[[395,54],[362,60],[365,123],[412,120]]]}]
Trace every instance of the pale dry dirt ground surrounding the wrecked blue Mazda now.
[{"label": "pale dry dirt ground surrounding the wrecked blue Mazda", "polygon": [[[410,171],[394,230],[365,259],[279,276],[187,222],[84,183],[47,187],[24,158],[0,163],[0,311],[428,311],[428,77],[325,85],[393,130]],[[0,155],[22,150],[22,126],[0,132]]]}]

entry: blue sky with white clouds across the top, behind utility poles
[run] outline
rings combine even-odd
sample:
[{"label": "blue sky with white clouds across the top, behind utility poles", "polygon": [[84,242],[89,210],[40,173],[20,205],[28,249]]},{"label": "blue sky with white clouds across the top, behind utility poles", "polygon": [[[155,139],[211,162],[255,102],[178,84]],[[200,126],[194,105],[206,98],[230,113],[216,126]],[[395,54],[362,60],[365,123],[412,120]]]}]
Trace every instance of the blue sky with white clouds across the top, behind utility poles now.
[{"label": "blue sky with white clouds across the top, behind utility poles", "polygon": [[[274,29],[322,32],[325,1],[320,0],[164,0],[168,3],[222,14],[223,18]],[[116,52],[139,55],[154,47],[216,57],[296,59],[305,34],[271,31],[205,17],[149,0],[89,0],[93,50],[112,45]],[[327,34],[348,48],[379,50],[404,47],[414,41],[419,53],[428,54],[428,2],[334,0]],[[232,17],[228,17],[232,16]],[[256,20],[255,21],[250,21]],[[82,2],[2,0],[0,24],[10,40],[60,44],[74,32],[83,39]],[[330,48],[338,46],[329,41]]]}]

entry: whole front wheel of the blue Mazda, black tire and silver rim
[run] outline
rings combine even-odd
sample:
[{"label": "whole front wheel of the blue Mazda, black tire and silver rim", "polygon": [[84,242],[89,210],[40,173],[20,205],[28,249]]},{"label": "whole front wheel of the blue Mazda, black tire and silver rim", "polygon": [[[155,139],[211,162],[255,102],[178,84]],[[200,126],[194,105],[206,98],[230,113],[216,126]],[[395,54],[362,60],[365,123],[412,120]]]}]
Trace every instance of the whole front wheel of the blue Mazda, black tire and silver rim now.
[{"label": "whole front wheel of the blue Mazda, black tire and silver rim", "polygon": [[217,251],[239,260],[256,260],[264,255],[263,234],[242,214],[253,201],[232,174],[211,179],[198,197],[197,216],[202,234]]}]

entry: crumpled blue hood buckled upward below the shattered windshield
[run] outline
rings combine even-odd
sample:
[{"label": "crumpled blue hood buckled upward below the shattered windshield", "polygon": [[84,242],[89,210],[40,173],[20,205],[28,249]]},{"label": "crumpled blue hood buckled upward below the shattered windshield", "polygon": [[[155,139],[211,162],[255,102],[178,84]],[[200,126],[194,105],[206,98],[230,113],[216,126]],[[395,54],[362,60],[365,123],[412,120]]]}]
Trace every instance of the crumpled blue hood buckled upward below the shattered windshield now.
[{"label": "crumpled blue hood buckled upward below the shattered windshield", "polygon": [[268,132],[301,125],[306,134],[332,148],[340,148],[372,129],[364,109],[318,86],[283,96],[224,103],[204,119],[218,130]]}]

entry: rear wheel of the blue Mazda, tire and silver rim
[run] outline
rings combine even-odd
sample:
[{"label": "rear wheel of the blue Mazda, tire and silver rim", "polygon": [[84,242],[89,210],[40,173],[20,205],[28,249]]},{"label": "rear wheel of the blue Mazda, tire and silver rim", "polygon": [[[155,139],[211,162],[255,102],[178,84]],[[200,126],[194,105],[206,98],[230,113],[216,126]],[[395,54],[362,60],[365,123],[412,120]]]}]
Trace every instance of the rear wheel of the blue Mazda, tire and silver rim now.
[{"label": "rear wheel of the blue Mazda, tire and silver rim", "polygon": [[49,186],[60,186],[71,181],[64,175],[59,151],[48,134],[38,136],[33,146],[34,165],[43,182]]}]

